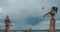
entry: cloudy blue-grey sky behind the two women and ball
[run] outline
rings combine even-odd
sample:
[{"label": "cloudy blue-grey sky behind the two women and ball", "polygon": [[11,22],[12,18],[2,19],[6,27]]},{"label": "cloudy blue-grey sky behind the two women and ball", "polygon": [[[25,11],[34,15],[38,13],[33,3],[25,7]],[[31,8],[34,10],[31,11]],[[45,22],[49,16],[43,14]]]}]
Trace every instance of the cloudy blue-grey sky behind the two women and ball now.
[{"label": "cloudy blue-grey sky behind the two women and ball", "polygon": [[60,29],[60,0],[0,0],[0,29],[5,28],[6,15],[9,15],[13,25],[10,29],[49,29],[50,15],[43,15],[48,13],[52,6],[58,7],[55,19],[56,29]]}]

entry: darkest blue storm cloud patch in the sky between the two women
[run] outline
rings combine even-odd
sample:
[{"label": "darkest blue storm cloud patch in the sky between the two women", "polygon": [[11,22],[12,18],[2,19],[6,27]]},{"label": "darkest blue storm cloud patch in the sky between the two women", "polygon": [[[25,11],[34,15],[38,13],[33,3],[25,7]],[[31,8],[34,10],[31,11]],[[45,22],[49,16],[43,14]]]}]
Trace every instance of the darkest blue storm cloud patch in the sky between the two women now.
[{"label": "darkest blue storm cloud patch in the sky between the two women", "polygon": [[30,17],[26,18],[26,22],[29,25],[36,25],[36,24],[40,23],[41,21],[44,21],[43,17],[30,16]]}]

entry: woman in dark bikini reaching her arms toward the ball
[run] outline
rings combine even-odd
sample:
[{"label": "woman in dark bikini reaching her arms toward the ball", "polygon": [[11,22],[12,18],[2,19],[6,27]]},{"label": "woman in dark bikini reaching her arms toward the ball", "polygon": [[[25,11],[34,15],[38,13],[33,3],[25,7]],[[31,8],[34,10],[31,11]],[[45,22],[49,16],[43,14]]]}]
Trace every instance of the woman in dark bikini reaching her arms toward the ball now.
[{"label": "woman in dark bikini reaching her arms toward the ball", "polygon": [[52,28],[53,28],[53,31],[56,32],[56,29],[55,29],[55,13],[57,13],[57,7],[52,7],[51,11],[48,12],[47,14],[45,14],[43,17],[47,16],[48,14],[51,15],[51,20],[50,20],[50,32],[52,32]]}]

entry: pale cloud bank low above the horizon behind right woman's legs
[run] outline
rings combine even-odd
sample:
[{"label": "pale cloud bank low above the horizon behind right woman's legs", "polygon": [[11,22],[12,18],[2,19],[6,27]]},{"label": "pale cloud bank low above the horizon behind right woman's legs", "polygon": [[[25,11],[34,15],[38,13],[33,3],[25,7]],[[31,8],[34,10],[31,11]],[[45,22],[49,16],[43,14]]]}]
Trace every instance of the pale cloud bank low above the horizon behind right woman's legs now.
[{"label": "pale cloud bank low above the horizon behind right woman's legs", "polygon": [[[45,29],[49,29],[49,22],[50,21],[42,21],[40,23],[38,23],[37,25],[33,26],[33,30],[45,30]],[[60,25],[58,26],[57,24],[60,23],[59,21],[56,21],[56,29],[60,29]]]}]

